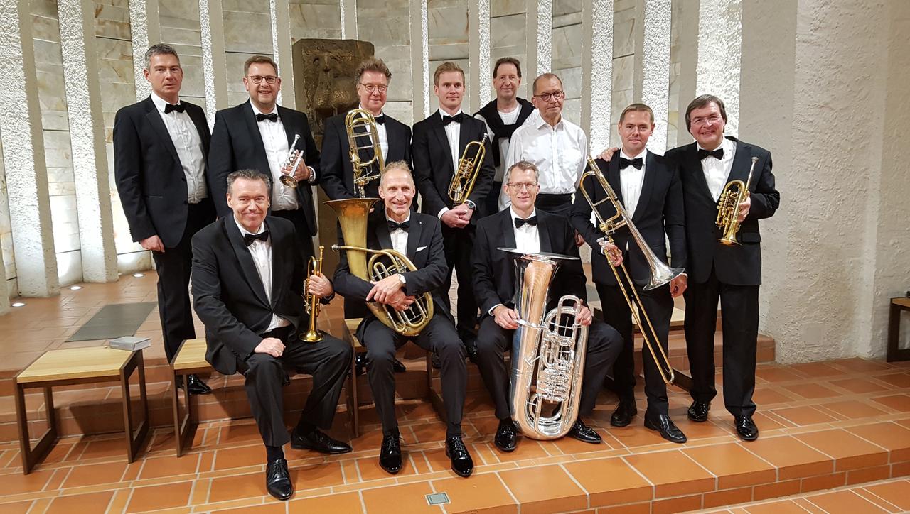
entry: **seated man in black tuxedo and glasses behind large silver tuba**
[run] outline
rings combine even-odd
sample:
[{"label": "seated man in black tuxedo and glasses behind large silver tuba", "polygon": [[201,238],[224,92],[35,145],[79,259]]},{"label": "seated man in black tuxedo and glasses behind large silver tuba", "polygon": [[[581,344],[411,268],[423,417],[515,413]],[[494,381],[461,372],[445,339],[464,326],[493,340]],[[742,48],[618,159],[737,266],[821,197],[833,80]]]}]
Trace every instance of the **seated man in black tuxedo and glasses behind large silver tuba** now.
[{"label": "seated man in black tuxedo and glasses behind large silver tuba", "polygon": [[[511,348],[512,334],[519,328],[519,313],[515,310],[515,268],[513,256],[498,247],[516,248],[522,252],[560,253],[578,257],[575,232],[569,221],[557,214],[535,211],[534,202],[540,192],[537,167],[526,161],[510,166],[505,174],[505,193],[511,207],[488,216],[477,225],[474,246],[474,292],[483,312],[477,335],[480,376],[490,391],[496,406],[500,426],[493,442],[503,451],[515,450],[516,427],[511,420],[509,381],[504,353]],[[573,294],[584,301],[587,279],[581,261],[562,261],[550,283],[551,299],[548,309],[555,306],[564,294]],[[584,424],[582,416],[594,410],[597,394],[604,378],[610,373],[613,361],[622,349],[619,332],[602,321],[592,322],[587,306],[581,307],[579,321],[589,327],[585,355],[579,417],[569,432],[571,437],[590,443],[600,443],[601,436]],[[512,357],[514,359],[514,356]],[[521,414],[518,413],[516,415]]]}]

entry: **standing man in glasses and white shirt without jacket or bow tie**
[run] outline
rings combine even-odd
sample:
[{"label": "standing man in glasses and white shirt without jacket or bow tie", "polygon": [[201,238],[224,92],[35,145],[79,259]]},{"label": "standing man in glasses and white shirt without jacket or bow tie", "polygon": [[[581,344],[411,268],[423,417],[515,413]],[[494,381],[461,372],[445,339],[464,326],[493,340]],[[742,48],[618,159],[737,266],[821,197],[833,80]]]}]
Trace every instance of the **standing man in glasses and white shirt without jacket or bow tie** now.
[{"label": "standing man in glasses and white shirt without jacket or bow tie", "polygon": [[[571,195],[584,172],[588,155],[588,136],[581,127],[562,117],[565,92],[555,74],[542,74],[534,80],[531,104],[538,115],[531,116],[512,134],[506,167],[519,161],[534,163],[541,172],[541,193],[537,208],[568,216]],[[500,195],[500,209],[509,206],[509,196]]]}]

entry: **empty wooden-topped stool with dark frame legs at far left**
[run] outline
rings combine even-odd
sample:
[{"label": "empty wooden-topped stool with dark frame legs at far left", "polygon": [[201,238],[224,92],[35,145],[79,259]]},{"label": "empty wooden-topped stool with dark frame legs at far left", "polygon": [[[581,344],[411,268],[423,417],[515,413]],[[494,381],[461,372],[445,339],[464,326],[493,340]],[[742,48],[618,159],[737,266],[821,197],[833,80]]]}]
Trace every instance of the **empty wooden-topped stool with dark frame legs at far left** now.
[{"label": "empty wooden-topped stool with dark frame legs at far left", "polygon": [[[136,431],[133,430],[133,407],[129,394],[129,379],[138,371],[139,399],[144,414]],[[19,446],[22,471],[31,472],[43,459],[57,439],[57,419],[54,412],[52,388],[60,385],[119,381],[123,402],[123,424],[126,434],[126,460],[136,460],[136,454],[148,432],[148,400],[146,370],[142,351],[124,351],[96,346],[46,351],[15,376],[15,413],[19,424]],[[28,435],[25,410],[25,390],[42,388],[45,392],[47,430],[32,448]]]}]

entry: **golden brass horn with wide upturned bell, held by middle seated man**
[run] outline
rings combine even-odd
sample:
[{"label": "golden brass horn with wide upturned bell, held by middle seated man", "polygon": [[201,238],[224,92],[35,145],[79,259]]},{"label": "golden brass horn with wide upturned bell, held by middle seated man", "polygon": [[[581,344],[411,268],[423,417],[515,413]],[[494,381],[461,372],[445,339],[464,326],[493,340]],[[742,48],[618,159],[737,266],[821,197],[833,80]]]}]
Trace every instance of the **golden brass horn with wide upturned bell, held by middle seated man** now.
[{"label": "golden brass horn with wide upturned bell, held by middle seated man", "polygon": [[[339,218],[341,237],[345,242],[344,245],[333,244],[332,250],[348,252],[351,274],[371,282],[378,282],[395,273],[417,270],[417,266],[399,252],[367,248],[367,215],[370,207],[376,202],[376,198],[349,198],[326,202]],[[369,262],[368,253],[371,254]],[[407,337],[419,334],[433,317],[433,298],[430,292],[418,295],[405,311],[396,311],[389,305],[375,301],[369,301],[367,307],[384,325]]]}]

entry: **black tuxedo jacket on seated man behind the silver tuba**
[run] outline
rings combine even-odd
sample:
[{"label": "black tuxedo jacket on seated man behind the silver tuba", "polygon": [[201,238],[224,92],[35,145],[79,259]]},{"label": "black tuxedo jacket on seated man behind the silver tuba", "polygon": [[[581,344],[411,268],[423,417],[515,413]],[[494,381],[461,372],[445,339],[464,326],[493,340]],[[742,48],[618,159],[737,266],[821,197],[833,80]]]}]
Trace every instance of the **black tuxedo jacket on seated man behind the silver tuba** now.
[{"label": "black tuxedo jacket on seated man behind the silver tuba", "polygon": [[[541,236],[541,252],[560,253],[578,257],[575,231],[569,221],[556,214],[537,210],[537,229]],[[502,303],[514,307],[515,264],[518,256],[497,248],[515,248],[515,224],[511,209],[491,214],[477,222],[472,255],[474,269],[474,295],[480,306],[480,317],[488,316],[490,309]],[[548,309],[564,294],[574,294],[587,301],[587,279],[580,260],[560,261],[559,268],[550,282]]]}]

